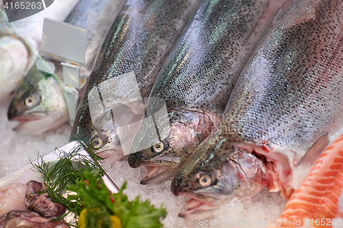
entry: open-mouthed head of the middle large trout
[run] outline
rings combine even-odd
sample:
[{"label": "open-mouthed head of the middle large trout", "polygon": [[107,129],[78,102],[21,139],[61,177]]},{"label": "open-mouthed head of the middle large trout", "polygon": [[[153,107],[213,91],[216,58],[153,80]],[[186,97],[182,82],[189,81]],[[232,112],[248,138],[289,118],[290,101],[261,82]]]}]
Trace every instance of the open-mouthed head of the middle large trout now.
[{"label": "open-mouthed head of the middle large trout", "polygon": [[[206,115],[194,110],[179,109],[158,116],[155,121],[143,121],[134,136],[128,158],[132,168],[150,168],[146,177],[141,180],[142,184],[156,183],[176,173],[180,164],[209,134],[202,132],[204,128],[212,127],[211,121],[204,121],[204,116]],[[207,118],[209,119],[208,116]],[[197,131],[200,125],[202,130]]]}]

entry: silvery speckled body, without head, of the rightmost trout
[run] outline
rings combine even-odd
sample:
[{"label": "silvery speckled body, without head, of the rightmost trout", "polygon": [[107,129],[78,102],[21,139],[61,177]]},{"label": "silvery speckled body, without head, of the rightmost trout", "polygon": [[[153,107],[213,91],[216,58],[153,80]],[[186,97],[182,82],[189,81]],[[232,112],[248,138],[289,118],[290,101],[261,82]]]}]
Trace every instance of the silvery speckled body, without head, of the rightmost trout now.
[{"label": "silvery speckled body, without head, of the rightmost trout", "polygon": [[343,1],[303,1],[247,65],[226,108],[228,128],[247,142],[268,142],[299,157],[324,134],[342,133]]}]

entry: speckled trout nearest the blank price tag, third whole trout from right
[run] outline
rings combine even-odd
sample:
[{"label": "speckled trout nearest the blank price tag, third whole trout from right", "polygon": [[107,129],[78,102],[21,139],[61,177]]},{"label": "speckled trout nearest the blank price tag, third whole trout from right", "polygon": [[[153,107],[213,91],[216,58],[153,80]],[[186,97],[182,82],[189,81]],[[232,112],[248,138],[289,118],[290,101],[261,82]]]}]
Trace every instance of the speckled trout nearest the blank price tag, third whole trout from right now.
[{"label": "speckled trout nearest the blank price tag, third whole trout from right", "polygon": [[[198,5],[198,0],[130,0],[123,5],[80,101],[71,140],[91,143],[99,155],[112,160],[123,155],[123,145],[130,140],[123,142],[120,136],[134,135],[137,129],[130,123],[139,123],[144,112],[142,103],[134,101],[149,96],[167,55]],[[113,113],[120,104],[117,110],[121,113]],[[119,130],[119,123],[127,123],[129,129]]]}]

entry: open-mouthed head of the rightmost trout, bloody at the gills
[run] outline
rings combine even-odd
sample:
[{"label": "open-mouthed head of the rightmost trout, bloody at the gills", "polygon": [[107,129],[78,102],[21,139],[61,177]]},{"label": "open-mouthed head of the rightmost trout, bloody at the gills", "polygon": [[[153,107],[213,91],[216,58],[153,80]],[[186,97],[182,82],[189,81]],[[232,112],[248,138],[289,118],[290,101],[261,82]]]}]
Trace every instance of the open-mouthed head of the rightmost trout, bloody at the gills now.
[{"label": "open-mouthed head of the rightmost trout, bloody at the gills", "polygon": [[256,155],[226,138],[209,138],[182,165],[171,192],[187,196],[187,211],[179,216],[202,218],[233,197],[248,197],[264,188],[270,175]]}]

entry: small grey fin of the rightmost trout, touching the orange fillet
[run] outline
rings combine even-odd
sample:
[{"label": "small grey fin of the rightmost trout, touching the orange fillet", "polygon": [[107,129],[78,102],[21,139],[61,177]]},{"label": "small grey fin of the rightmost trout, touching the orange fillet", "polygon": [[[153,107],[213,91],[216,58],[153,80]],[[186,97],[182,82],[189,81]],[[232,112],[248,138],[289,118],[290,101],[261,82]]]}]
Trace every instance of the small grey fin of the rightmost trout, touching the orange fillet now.
[{"label": "small grey fin of the rightmost trout, touching the orange fillet", "polygon": [[317,157],[329,146],[329,133],[324,134],[312,147],[306,152],[305,156],[298,162],[298,165],[311,166],[316,161]]}]

